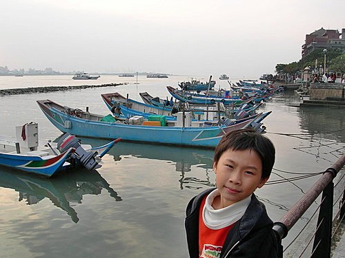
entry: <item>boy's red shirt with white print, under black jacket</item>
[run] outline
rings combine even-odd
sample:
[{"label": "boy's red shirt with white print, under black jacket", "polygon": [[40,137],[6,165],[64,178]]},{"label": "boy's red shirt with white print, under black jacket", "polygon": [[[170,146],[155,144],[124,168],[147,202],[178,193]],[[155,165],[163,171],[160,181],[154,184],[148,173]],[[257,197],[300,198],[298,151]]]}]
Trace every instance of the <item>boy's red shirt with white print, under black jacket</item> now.
[{"label": "boy's red shirt with white print, under black jacket", "polygon": [[213,258],[219,257],[226,235],[228,235],[228,231],[234,224],[221,229],[208,228],[202,218],[202,211],[204,210],[206,197],[207,196],[202,200],[199,210],[199,257]]}]

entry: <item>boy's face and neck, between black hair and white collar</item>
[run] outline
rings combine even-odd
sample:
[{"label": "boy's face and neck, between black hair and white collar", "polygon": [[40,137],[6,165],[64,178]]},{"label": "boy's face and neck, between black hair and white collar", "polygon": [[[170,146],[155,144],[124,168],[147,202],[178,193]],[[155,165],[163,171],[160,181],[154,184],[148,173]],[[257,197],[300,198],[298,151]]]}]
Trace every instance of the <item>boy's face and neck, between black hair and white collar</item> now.
[{"label": "boy's face and neck, between black hair and white collar", "polygon": [[221,154],[218,164],[213,164],[220,200],[213,208],[224,208],[243,200],[262,187],[268,178],[262,179],[262,161],[256,151],[228,149]]}]

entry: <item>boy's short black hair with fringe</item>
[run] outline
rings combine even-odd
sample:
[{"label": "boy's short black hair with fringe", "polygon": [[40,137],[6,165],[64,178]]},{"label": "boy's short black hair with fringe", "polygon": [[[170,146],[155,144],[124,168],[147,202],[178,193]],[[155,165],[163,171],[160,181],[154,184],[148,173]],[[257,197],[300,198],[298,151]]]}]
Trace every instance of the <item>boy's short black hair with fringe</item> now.
[{"label": "boy's short black hair with fringe", "polygon": [[226,133],[219,141],[213,162],[218,164],[219,158],[224,151],[243,151],[245,149],[254,150],[262,161],[262,178],[269,178],[275,164],[275,147],[270,139],[258,133],[253,128],[231,131]]}]

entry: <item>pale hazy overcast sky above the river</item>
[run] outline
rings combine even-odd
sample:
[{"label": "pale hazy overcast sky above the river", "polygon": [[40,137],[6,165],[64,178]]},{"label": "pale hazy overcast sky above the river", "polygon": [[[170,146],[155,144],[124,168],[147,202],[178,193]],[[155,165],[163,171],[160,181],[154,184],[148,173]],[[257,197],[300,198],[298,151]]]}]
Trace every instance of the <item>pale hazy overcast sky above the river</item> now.
[{"label": "pale hazy overcast sky above the river", "polygon": [[0,0],[0,66],[255,77],[345,28],[344,0]]}]

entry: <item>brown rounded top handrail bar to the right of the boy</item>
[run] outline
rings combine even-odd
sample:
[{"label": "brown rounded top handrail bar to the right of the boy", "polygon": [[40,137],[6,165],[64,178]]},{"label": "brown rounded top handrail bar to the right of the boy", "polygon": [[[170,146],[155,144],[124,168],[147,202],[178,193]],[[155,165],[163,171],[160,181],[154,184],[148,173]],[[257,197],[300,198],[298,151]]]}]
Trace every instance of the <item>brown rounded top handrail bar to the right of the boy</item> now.
[{"label": "brown rounded top handrail bar to the right of the boy", "polygon": [[342,155],[333,166],[326,169],[321,178],[315,182],[311,189],[306,192],[303,197],[296,202],[296,204],[290,208],[288,213],[282,217],[278,222],[275,222],[273,230],[277,233],[280,239],[284,239],[288,235],[290,230],[298,221],[300,217],[306,212],[306,210],[313,204],[317,197],[324,191],[326,186],[333,181],[337,173],[345,165],[345,154]]}]

